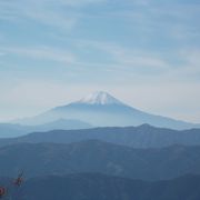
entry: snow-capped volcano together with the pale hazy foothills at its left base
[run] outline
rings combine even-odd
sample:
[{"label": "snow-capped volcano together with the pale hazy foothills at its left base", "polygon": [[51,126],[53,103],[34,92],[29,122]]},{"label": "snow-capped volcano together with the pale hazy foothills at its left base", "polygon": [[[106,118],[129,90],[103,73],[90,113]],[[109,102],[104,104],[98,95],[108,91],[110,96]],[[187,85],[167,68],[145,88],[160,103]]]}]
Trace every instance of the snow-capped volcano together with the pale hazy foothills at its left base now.
[{"label": "snow-capped volcano together with the pale hazy foothills at its left base", "polygon": [[12,138],[36,131],[88,129],[92,127],[130,127],[148,123],[171,129],[200,128],[134,109],[107,92],[93,92],[76,102],[56,107],[32,118],[0,123],[0,137]]}]

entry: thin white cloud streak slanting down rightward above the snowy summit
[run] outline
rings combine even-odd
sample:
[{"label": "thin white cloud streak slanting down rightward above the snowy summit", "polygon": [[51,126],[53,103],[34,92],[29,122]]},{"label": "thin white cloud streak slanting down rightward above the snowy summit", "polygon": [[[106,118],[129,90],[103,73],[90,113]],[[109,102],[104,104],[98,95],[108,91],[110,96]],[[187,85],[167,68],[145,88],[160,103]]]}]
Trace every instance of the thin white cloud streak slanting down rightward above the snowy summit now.
[{"label": "thin white cloud streak slanting down rightward above the snowy summit", "polygon": [[[132,71],[139,72],[148,70],[149,72],[164,71],[170,68],[170,64],[160,54],[152,51],[144,51],[138,49],[129,49],[120,47],[111,42],[102,41],[79,41],[80,46],[88,48],[96,48],[104,53],[108,53],[112,58],[113,63],[121,66],[122,70],[132,69]],[[114,66],[114,64],[113,64]],[[143,71],[142,71],[143,72]]]}]

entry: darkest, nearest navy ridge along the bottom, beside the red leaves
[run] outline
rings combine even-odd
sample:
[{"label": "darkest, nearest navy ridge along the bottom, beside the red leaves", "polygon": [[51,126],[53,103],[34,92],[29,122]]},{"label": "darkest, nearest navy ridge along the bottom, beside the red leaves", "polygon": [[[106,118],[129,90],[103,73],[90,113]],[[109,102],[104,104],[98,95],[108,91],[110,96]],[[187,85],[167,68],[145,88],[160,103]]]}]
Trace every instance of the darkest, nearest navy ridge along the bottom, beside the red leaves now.
[{"label": "darkest, nearest navy ridge along the bottom, beside the red leaves", "polygon": [[200,176],[157,182],[100,173],[38,177],[8,196],[16,200],[199,200]]}]

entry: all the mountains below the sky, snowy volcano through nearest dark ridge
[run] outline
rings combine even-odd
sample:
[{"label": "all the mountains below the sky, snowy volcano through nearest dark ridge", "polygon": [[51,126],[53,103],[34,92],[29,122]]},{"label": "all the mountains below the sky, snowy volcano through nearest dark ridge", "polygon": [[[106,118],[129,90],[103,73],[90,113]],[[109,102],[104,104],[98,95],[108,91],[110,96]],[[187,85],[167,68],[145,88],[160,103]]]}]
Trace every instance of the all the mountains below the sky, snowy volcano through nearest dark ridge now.
[{"label": "all the mountains below the sky, snowy volcano through nearest dark ridge", "polygon": [[10,198],[200,198],[199,124],[146,113],[106,92],[14,122],[0,124],[0,183],[21,169],[27,180],[9,189]]}]

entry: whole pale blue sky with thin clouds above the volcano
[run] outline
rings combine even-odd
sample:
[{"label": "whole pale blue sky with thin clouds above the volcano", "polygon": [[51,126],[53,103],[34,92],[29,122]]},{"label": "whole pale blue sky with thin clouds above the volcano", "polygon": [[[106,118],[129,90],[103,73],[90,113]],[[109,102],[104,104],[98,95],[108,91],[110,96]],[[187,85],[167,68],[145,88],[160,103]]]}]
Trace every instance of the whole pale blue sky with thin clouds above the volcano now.
[{"label": "whole pale blue sky with thin clouds above the volcano", "polygon": [[107,91],[200,122],[199,0],[0,0],[0,121]]}]

